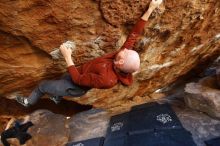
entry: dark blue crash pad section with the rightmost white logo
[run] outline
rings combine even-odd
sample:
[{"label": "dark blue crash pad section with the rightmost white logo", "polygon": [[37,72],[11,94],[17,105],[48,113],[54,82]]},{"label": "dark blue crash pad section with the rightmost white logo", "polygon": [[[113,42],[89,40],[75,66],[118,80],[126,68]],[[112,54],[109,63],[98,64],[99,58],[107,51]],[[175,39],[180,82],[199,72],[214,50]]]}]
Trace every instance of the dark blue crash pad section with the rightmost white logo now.
[{"label": "dark blue crash pad section with the rightmost white logo", "polygon": [[143,104],[133,107],[129,114],[129,134],[182,128],[169,104]]}]

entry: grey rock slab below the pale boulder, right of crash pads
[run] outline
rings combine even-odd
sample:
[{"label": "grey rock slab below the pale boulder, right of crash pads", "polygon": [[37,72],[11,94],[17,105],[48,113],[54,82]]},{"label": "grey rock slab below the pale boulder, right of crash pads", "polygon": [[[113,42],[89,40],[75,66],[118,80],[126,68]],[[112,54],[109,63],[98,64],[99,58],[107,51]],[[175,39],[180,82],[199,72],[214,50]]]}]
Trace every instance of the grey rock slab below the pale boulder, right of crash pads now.
[{"label": "grey rock slab below the pale boulder, right of crash pads", "polygon": [[219,120],[182,106],[175,107],[174,110],[184,128],[192,133],[197,146],[206,146],[204,141],[220,136]]}]

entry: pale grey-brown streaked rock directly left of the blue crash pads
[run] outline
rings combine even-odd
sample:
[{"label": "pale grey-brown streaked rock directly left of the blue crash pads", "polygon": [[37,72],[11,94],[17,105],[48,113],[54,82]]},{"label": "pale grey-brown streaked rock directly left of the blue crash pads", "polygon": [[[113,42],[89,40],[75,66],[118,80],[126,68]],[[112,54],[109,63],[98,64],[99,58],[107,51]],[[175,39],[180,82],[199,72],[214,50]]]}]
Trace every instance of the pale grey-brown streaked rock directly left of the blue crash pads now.
[{"label": "pale grey-brown streaked rock directly left of the blue crash pads", "polygon": [[110,115],[102,110],[92,109],[81,112],[68,120],[69,141],[80,141],[105,137]]}]

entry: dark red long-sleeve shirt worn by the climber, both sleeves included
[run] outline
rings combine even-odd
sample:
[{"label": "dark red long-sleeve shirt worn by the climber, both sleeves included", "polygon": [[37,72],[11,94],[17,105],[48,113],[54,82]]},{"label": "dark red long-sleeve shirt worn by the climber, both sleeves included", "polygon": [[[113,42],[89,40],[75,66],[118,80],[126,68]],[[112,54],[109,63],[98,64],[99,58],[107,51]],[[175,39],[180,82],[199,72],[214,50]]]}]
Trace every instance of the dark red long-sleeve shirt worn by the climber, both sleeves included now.
[{"label": "dark red long-sleeve shirt worn by the climber, both sleeves included", "polygon": [[[145,24],[146,21],[142,19],[135,24],[120,50],[133,48]],[[111,88],[118,82],[131,85],[133,82],[132,74],[120,73],[114,69],[114,59],[119,51],[88,61],[78,68],[74,65],[69,66],[67,69],[72,81],[80,86],[99,89]]]}]

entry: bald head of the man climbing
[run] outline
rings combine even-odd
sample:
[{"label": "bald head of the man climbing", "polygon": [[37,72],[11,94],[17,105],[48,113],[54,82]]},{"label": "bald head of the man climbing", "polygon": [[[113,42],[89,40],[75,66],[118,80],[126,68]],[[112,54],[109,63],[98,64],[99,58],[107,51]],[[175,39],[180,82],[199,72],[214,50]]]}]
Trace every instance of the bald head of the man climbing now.
[{"label": "bald head of the man climbing", "polygon": [[133,73],[140,68],[140,57],[134,50],[123,49],[115,57],[115,67],[125,73]]}]

